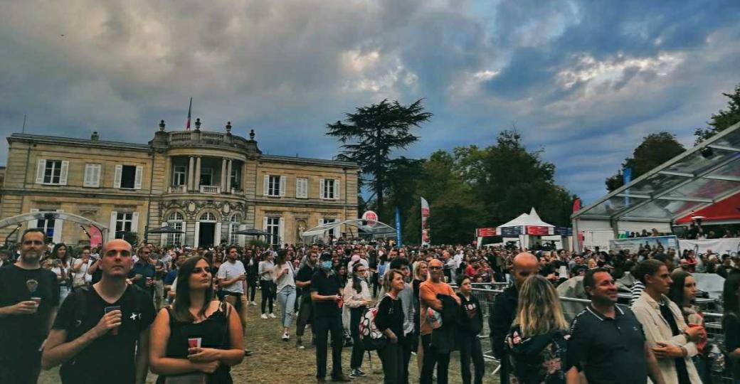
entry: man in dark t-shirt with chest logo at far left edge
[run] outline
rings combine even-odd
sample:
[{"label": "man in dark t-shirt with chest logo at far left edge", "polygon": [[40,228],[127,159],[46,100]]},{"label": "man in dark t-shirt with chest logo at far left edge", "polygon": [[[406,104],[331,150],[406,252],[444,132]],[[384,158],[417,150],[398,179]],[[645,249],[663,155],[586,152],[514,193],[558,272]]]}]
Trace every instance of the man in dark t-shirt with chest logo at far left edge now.
[{"label": "man in dark t-shirt with chest logo at far left edge", "polygon": [[36,383],[59,305],[56,274],[39,264],[44,232],[27,229],[20,250],[16,263],[0,269],[0,383]]}]

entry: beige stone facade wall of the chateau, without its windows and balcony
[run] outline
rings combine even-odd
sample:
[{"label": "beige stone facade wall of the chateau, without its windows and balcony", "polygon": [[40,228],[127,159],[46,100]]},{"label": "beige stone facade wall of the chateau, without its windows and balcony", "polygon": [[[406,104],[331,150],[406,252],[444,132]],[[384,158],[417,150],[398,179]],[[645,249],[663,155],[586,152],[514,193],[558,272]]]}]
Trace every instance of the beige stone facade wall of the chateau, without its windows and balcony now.
[{"label": "beige stone facade wall of the chateau, without its windows and balcony", "polygon": [[[243,220],[240,223],[246,228],[263,227],[265,215],[279,215],[284,220],[283,242],[297,243],[297,224],[301,223],[310,229],[316,226],[320,218],[346,220],[357,218],[357,168],[343,164],[326,164],[309,159],[286,158],[266,160],[260,155],[247,155],[233,148],[222,151],[213,148],[172,148],[164,152],[155,152],[141,147],[120,149],[110,143],[101,147],[84,144],[53,144],[39,141],[29,143],[24,140],[9,140],[7,168],[4,169],[4,186],[0,196],[0,218],[31,212],[31,209],[60,209],[64,212],[81,215],[95,220],[105,226],[110,225],[110,213],[137,212],[138,225],[135,227],[140,238],[144,238],[144,228],[149,225],[161,226],[166,219],[164,215],[166,201],[173,198],[179,201],[204,201],[213,206],[229,201],[240,203]],[[174,156],[203,156],[208,158],[231,158],[239,161],[241,169],[241,186],[243,191],[238,195],[204,195],[199,192],[171,194],[172,161]],[[69,161],[67,185],[49,186],[36,183],[38,159]],[[101,185],[85,187],[85,164],[102,164]],[[128,190],[114,188],[116,164],[142,166],[141,189]],[[235,163],[237,164],[237,163]],[[221,169],[218,169],[220,172]],[[286,176],[286,194],[282,198],[263,195],[264,175]],[[309,198],[296,198],[296,178],[309,179]],[[321,199],[319,181],[321,178],[340,180],[339,198]],[[218,183],[217,183],[218,184]],[[161,207],[162,205],[162,207]],[[171,206],[171,202],[170,205]],[[186,218],[186,245],[192,245],[195,238],[195,221],[197,218]],[[223,218],[222,232],[226,232],[226,218]],[[23,229],[27,227],[24,224]],[[4,240],[13,227],[0,229],[0,240]],[[115,228],[113,229],[115,230]],[[150,241],[157,242],[160,235],[149,236]],[[87,236],[76,223],[62,225],[62,240],[66,243],[87,241]]]}]

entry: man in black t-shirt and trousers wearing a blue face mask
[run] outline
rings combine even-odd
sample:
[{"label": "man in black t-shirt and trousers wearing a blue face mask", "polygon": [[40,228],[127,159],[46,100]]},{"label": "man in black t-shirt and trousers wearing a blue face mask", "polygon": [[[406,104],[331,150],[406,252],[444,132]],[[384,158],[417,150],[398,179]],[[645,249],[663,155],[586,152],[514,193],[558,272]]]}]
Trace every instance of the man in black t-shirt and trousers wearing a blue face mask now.
[{"label": "man in black t-shirt and trousers wearing a blue face mask", "polygon": [[316,379],[324,383],[326,377],[326,343],[332,334],[332,381],[351,381],[342,372],[342,284],[332,271],[332,254],[323,253],[319,270],[311,277],[311,300],[314,323],[312,331],[316,339]]}]

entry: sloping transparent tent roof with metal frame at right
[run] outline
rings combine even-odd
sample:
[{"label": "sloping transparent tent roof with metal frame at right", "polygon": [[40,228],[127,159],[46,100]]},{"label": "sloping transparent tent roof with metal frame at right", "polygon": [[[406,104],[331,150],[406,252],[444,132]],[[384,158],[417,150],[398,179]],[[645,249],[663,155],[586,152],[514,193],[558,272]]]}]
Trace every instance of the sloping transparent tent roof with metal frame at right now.
[{"label": "sloping transparent tent roof with metal frame at right", "polygon": [[740,123],[687,149],[571,218],[670,222],[740,192]]}]

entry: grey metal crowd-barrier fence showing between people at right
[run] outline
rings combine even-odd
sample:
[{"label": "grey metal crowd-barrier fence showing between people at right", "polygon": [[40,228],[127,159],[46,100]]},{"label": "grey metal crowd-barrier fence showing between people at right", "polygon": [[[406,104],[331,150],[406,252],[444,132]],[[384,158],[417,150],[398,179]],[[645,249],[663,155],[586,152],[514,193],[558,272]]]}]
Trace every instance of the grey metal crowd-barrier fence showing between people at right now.
[{"label": "grey metal crowd-barrier fence showing between people at right", "polygon": [[[494,374],[497,374],[500,362],[496,359],[496,357],[494,357],[493,348],[491,347],[491,337],[489,334],[490,329],[488,329],[488,326],[485,326],[485,324],[488,323],[488,317],[491,315],[491,309],[493,309],[494,307],[494,300],[496,298],[496,295],[503,292],[502,289],[505,288],[506,285],[505,283],[503,283],[500,285],[500,287],[496,287],[501,289],[490,289],[485,286],[490,285],[475,284],[472,294],[480,302],[480,307],[483,312],[484,326],[483,331],[479,336],[483,349],[483,357],[485,357],[485,360],[488,360],[489,362],[495,364],[496,369],[494,370]],[[560,300],[563,306],[563,312],[568,321],[571,321],[573,317],[576,317],[577,314],[579,314],[583,309],[585,309],[586,306],[588,306],[589,303],[591,303],[591,300],[577,299],[574,297],[560,297]],[[621,306],[622,304],[618,305]],[[722,330],[721,319],[722,314],[704,312],[704,326],[707,329],[708,346],[711,344],[716,344],[720,348],[724,346],[724,331]],[[721,349],[724,351],[724,348]],[[732,375],[729,371],[729,364],[727,364],[727,368],[724,370],[724,372],[712,372],[711,378],[705,380],[704,383],[710,384],[706,383],[706,381],[710,381],[710,383],[712,384],[733,383]]]}]

